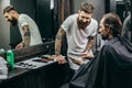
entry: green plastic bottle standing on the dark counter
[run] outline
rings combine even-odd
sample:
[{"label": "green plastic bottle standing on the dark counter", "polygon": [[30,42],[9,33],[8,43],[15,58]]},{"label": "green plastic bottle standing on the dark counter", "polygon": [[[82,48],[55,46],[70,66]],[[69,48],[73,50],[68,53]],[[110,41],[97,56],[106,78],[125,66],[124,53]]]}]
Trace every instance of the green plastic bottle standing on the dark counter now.
[{"label": "green plastic bottle standing on the dark counter", "polygon": [[13,52],[11,50],[7,51],[7,62],[11,66],[11,68],[13,69],[14,68],[14,55],[13,55]]}]

